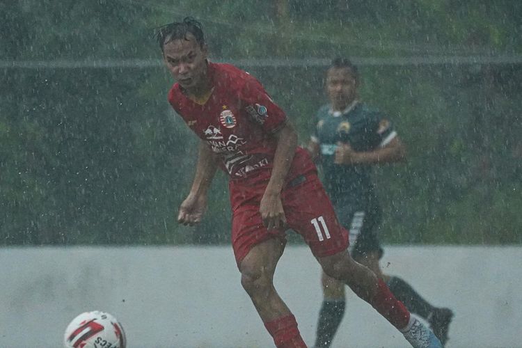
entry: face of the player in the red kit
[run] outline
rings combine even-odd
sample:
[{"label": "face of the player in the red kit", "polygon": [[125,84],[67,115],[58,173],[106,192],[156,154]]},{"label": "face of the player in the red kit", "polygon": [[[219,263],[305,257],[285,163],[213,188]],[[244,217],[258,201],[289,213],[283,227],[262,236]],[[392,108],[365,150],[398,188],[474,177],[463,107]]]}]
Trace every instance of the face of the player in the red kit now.
[{"label": "face of the player in the red kit", "polygon": [[174,79],[187,90],[205,85],[207,47],[201,47],[191,33],[187,39],[172,40],[163,47],[163,57]]}]

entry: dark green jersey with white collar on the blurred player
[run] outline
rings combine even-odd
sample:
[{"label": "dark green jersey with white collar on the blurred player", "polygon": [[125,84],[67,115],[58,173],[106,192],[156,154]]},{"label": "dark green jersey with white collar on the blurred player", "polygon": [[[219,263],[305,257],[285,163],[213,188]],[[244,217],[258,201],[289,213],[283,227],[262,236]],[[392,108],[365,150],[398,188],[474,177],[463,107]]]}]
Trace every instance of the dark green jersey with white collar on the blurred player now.
[{"label": "dark green jersey with white collar on the blurred player", "polygon": [[357,152],[371,151],[395,136],[388,118],[365,104],[354,102],[342,112],[332,112],[329,105],[319,109],[312,141],[319,144],[324,187],[335,206],[352,205],[360,209],[376,201],[372,166],[335,164],[336,144],[348,143]]}]

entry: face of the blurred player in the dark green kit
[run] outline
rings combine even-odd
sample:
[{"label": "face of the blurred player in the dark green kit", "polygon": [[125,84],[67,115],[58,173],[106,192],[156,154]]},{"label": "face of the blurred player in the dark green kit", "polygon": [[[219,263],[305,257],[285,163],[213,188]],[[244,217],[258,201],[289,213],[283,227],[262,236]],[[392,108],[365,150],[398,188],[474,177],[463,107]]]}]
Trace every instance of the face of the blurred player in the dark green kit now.
[{"label": "face of the blurred player in the dark green kit", "polygon": [[345,109],[357,97],[357,79],[349,68],[330,68],[326,92],[334,108]]}]

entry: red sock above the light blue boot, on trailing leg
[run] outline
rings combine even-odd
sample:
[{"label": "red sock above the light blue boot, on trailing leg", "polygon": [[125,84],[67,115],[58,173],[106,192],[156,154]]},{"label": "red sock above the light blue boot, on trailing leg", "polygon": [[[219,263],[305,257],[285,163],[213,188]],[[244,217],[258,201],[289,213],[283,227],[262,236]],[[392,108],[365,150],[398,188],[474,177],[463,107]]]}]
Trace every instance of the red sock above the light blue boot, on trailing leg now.
[{"label": "red sock above the light blue boot, on trailing leg", "polygon": [[373,296],[370,304],[397,329],[404,329],[408,325],[409,311],[404,303],[395,299],[388,285],[381,279],[377,284],[377,293]]}]

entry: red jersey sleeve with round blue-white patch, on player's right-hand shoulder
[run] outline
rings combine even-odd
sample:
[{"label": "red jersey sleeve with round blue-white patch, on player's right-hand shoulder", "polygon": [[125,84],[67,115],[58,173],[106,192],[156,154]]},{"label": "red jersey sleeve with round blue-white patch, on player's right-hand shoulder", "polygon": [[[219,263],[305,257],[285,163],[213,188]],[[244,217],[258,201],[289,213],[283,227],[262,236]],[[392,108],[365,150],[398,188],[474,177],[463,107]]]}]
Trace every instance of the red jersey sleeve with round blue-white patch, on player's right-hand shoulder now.
[{"label": "red jersey sleeve with round blue-white patch, on player's right-hand shoulder", "polygon": [[259,81],[247,79],[240,93],[241,108],[265,132],[274,133],[287,122],[285,112],[271,99]]}]

